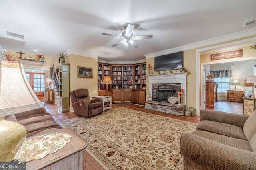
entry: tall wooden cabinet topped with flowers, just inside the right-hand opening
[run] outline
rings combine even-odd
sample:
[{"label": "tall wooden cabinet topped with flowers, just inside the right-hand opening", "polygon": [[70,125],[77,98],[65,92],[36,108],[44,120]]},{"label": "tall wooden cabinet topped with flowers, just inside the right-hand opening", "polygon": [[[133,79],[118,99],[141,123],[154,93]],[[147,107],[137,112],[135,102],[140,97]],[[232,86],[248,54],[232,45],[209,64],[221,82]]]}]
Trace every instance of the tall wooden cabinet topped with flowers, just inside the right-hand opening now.
[{"label": "tall wooden cabinet topped with flowers, just inside the right-hand opening", "polygon": [[206,82],[205,83],[205,106],[206,107],[215,107],[215,82]]}]

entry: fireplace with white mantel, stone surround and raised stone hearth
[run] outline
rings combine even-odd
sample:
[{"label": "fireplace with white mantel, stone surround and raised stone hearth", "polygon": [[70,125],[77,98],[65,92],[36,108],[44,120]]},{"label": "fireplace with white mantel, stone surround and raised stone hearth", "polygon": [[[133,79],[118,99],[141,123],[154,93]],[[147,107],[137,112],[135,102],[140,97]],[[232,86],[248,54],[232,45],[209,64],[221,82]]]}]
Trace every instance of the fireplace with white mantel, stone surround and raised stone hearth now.
[{"label": "fireplace with white mantel, stone surround and raised stone hearth", "polygon": [[[149,74],[148,84],[151,98],[145,101],[145,109],[161,111],[165,113],[184,115],[186,111],[186,84],[188,72],[169,74]],[[184,105],[170,104],[170,96],[177,97],[178,92],[183,89]]]}]

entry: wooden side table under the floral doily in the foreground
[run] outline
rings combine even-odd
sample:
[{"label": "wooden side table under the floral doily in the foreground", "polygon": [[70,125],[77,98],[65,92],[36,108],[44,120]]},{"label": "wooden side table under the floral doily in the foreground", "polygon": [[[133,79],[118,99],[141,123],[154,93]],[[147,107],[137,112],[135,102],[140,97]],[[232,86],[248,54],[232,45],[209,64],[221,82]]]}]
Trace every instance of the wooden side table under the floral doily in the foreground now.
[{"label": "wooden side table under the floral doily in the foreground", "polygon": [[[70,129],[64,128],[54,132],[65,132],[72,137],[67,145],[55,153],[48,154],[42,159],[26,162],[26,170],[83,170],[84,149],[87,144],[73,133]],[[31,139],[30,137],[28,139]],[[28,140],[26,139],[26,140]]]}]

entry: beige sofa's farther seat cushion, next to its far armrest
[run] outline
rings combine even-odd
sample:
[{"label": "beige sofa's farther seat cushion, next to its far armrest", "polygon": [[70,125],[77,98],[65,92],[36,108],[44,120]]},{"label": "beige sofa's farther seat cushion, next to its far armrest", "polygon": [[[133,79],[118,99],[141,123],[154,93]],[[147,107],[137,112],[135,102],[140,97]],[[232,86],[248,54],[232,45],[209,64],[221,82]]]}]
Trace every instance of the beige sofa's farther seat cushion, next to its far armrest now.
[{"label": "beige sofa's farther seat cushion, next to its far armrest", "polygon": [[247,140],[242,127],[216,121],[203,120],[197,125],[196,130],[208,131],[237,139]]}]

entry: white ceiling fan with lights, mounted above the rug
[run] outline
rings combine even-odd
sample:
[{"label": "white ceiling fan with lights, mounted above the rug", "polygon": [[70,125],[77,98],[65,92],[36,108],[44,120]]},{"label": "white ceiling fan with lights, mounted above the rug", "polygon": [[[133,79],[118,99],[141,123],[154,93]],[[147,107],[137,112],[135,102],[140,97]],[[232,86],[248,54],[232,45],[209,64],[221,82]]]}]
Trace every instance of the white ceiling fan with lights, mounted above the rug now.
[{"label": "white ceiling fan with lights, mounted above the rug", "polygon": [[138,46],[137,43],[135,43],[134,40],[150,39],[150,38],[153,37],[153,35],[138,35],[138,36],[134,36],[133,37],[132,36],[133,28],[134,28],[134,25],[128,23],[128,25],[126,25],[124,27],[125,31],[122,33],[122,37],[118,36],[118,35],[107,34],[107,33],[102,33],[102,34],[122,39],[122,41],[120,41],[120,42],[118,42],[118,43],[116,43],[116,44],[114,44],[112,46],[117,46],[117,45],[122,43],[122,44],[124,44],[124,47],[129,47],[129,44],[130,44],[130,45],[132,45],[135,48],[137,48],[139,46]]}]

